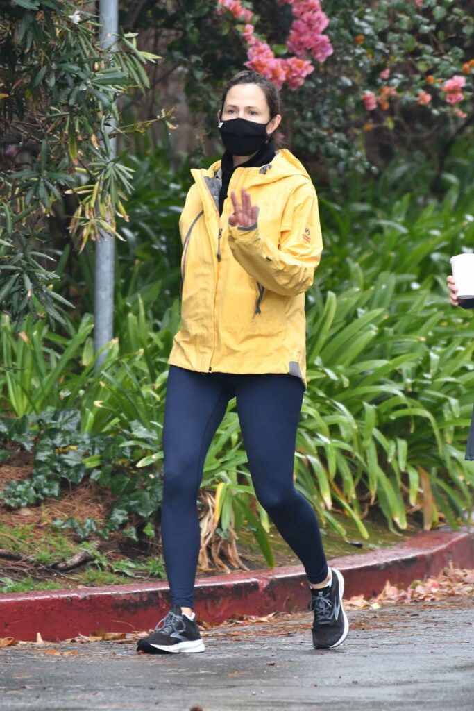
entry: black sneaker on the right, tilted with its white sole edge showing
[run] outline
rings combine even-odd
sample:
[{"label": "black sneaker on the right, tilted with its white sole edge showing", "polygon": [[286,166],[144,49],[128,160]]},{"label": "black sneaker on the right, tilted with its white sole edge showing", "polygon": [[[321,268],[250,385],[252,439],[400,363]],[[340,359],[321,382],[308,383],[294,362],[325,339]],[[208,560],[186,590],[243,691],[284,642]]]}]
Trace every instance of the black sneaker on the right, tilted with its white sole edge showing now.
[{"label": "black sneaker on the right, tilted with its white sole edge showing", "polygon": [[348,636],[349,623],[343,607],[344,578],[331,568],[333,581],[319,590],[311,588],[311,609],[314,611],[313,647],[333,649]]}]

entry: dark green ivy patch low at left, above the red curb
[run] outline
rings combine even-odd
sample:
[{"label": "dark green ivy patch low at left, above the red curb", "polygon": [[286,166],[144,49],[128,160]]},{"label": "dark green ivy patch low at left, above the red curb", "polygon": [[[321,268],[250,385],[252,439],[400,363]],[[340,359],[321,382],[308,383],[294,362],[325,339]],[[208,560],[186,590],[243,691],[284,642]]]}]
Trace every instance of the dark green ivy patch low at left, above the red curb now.
[{"label": "dark green ivy patch low at left, above the red curb", "polygon": [[[131,424],[137,426],[138,423]],[[125,434],[141,435],[144,439],[127,443]],[[96,533],[107,538],[129,518],[147,520],[159,510],[162,487],[156,469],[130,469],[134,447],[144,448],[149,444],[144,432],[133,430],[117,436],[81,433],[78,410],[46,410],[41,415],[0,420],[0,438],[5,444],[21,444],[26,451],[32,449],[34,442],[33,474],[30,479],[10,481],[0,492],[6,506],[19,508],[48,497],[58,498],[65,484],[77,486],[86,476],[110,489],[117,500],[107,525],[101,530],[97,530],[97,523],[90,518],[82,523],[72,518],[55,522],[58,528],[71,528],[80,540]]]}]

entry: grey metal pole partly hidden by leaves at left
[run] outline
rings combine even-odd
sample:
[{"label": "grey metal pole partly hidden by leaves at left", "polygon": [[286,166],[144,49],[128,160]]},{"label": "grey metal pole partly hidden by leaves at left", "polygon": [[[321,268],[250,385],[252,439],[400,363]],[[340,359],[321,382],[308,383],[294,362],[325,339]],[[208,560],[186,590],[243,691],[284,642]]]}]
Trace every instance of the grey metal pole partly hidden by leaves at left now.
[{"label": "grey metal pole partly hidden by leaves at left", "polygon": [[[114,41],[119,29],[118,0],[100,0],[99,21],[101,24],[100,42],[107,49]],[[114,125],[107,132],[114,129]],[[111,154],[117,154],[117,139],[111,138]],[[103,230],[95,245],[95,295],[94,295],[94,351],[112,340],[114,335],[114,237]],[[97,367],[102,365],[106,352],[97,359]]]}]

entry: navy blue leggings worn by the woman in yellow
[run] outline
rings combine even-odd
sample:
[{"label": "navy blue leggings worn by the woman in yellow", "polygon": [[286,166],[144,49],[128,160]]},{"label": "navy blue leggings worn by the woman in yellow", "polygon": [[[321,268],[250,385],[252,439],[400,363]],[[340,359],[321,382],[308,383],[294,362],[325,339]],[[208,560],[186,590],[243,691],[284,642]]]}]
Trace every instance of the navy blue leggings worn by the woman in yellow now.
[{"label": "navy blue leggings worn by the woman in yellow", "polygon": [[303,384],[293,375],[195,373],[171,365],[163,424],[161,533],[173,605],[193,607],[200,547],[196,500],[205,456],[232,397],[259,502],[310,582],[328,575],[318,521],[293,486]]}]

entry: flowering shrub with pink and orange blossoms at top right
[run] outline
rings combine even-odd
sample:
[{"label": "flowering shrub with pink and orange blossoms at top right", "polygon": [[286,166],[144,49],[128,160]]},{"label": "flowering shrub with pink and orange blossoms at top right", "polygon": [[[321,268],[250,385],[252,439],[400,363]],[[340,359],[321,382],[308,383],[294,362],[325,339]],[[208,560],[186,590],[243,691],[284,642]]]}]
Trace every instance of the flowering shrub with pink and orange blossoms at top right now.
[{"label": "flowering shrub with pink and orange blossoms at top right", "polygon": [[242,38],[244,65],[298,90],[287,139],[340,171],[367,165],[370,129],[383,131],[389,157],[404,144],[436,150],[424,145],[433,122],[443,145],[470,126],[474,18],[463,3],[217,0],[217,10]]}]

